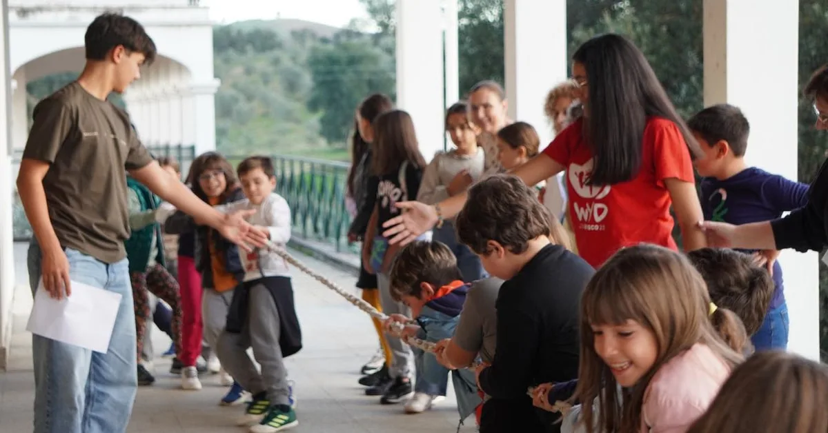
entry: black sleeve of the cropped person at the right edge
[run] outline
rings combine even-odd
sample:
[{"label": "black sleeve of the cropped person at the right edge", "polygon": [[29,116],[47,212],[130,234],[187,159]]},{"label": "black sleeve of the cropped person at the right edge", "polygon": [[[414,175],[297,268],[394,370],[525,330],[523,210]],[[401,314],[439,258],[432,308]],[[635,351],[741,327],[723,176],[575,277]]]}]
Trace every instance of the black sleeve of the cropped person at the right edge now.
[{"label": "black sleeve of the cropped person at the right edge", "polygon": [[808,200],[804,207],[787,216],[771,221],[776,248],[793,248],[805,253],[821,251],[828,245],[828,160],[822,163],[816,179],[811,183]]}]

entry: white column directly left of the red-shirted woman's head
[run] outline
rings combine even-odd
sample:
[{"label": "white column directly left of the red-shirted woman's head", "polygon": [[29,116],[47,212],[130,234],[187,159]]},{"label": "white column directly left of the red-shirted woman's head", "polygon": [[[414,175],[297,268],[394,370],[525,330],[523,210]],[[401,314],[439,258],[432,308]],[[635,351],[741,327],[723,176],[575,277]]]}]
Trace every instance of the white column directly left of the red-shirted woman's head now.
[{"label": "white column directly left of the red-shirted woman's head", "polygon": [[545,146],[546,92],[568,76],[566,0],[505,0],[503,26],[508,115],[535,127]]}]

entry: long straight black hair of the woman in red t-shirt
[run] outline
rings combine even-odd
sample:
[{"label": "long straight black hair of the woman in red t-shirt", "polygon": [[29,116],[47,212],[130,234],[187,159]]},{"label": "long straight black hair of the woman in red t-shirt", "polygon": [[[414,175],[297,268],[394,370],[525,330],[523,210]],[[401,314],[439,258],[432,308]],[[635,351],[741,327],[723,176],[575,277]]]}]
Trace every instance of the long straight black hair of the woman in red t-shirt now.
[{"label": "long straight black hair of the woman in red t-shirt", "polygon": [[584,65],[590,98],[584,132],[595,156],[590,184],[613,185],[633,179],[641,168],[647,118],[676,123],[691,157],[700,147],[667,98],[641,50],[623,36],[595,36],[572,60]]}]

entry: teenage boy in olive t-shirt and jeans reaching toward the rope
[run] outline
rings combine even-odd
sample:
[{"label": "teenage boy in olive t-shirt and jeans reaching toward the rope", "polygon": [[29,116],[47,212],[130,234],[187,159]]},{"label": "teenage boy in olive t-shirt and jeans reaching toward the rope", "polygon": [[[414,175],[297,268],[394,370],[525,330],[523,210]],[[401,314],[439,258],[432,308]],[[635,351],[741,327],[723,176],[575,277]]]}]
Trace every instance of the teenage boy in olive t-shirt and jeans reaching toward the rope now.
[{"label": "teenage boy in olive t-shirt and jeans reaching toward the rope", "polygon": [[[17,176],[35,234],[28,253],[32,291],[72,296],[76,281],[121,295],[105,354],[32,336],[35,433],[122,433],[137,388],[135,317],[128,263],[126,172],[224,238],[262,246],[265,237],[173,181],[142,146],[129,116],[106,99],[140,77],[156,55],[143,27],[118,14],[96,17],[85,35],[77,81],[38,103]],[[75,288],[75,290],[77,290]]]}]

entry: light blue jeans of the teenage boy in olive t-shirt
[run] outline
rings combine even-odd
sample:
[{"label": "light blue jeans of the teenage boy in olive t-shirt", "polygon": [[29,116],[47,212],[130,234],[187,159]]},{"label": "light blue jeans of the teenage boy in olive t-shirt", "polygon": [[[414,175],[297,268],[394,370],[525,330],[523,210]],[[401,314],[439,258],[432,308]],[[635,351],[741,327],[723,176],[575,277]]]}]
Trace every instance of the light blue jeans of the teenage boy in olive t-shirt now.
[{"label": "light blue jeans of the teenage boy in olive t-shirt", "polygon": [[[35,373],[35,433],[123,433],[137,391],[135,312],[127,259],[108,264],[65,249],[71,281],[121,295],[106,354],[31,336]],[[29,284],[41,278],[41,249],[29,246]]]}]

